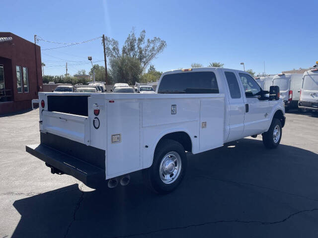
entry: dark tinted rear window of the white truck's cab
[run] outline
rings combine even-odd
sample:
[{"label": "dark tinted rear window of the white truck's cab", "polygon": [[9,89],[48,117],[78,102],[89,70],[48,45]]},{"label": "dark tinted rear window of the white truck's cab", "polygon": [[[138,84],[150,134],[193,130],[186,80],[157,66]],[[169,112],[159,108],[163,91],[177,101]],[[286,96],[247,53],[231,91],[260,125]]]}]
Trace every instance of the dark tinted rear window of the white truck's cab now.
[{"label": "dark tinted rear window of the white truck's cab", "polygon": [[211,71],[171,73],[161,78],[158,93],[219,93],[219,86]]}]

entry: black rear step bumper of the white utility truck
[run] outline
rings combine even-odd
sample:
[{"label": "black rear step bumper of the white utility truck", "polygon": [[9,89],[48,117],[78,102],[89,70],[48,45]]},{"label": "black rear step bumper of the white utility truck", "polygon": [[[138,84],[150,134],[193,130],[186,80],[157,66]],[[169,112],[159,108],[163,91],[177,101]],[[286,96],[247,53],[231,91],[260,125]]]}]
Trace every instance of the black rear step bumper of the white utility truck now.
[{"label": "black rear step bumper of the white utility truck", "polygon": [[73,176],[89,187],[96,187],[98,183],[105,180],[104,170],[44,144],[27,145],[25,146],[25,150],[44,161],[49,167]]}]

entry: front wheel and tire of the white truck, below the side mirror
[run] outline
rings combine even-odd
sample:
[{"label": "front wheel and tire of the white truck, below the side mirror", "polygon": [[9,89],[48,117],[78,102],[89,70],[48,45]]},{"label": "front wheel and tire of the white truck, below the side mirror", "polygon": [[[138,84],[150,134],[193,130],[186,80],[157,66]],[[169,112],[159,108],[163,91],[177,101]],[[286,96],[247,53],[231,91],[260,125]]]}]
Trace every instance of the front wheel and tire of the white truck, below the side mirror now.
[{"label": "front wheel and tire of the white truck, below the side mirror", "polygon": [[274,149],[280,143],[282,138],[282,123],[279,119],[273,118],[268,131],[262,134],[263,144],[267,149]]}]

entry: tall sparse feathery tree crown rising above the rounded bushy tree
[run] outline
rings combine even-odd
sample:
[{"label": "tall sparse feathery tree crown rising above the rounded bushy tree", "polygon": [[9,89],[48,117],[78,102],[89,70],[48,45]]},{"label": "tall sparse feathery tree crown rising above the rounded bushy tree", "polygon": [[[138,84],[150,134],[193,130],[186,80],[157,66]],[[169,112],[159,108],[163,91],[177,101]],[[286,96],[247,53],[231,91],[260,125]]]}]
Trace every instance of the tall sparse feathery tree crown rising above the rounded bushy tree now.
[{"label": "tall sparse feathery tree crown rising above the rounded bushy tree", "polygon": [[155,59],[159,53],[162,53],[166,47],[164,40],[161,40],[159,37],[154,37],[153,39],[146,38],[146,31],[142,30],[139,37],[135,36],[135,29],[128,34],[128,37],[125,41],[122,51],[120,53],[119,43],[113,38],[105,38],[106,44],[106,55],[110,59],[128,59],[122,58],[128,56],[131,58],[136,58],[141,64],[142,72],[148,66],[148,64]]}]

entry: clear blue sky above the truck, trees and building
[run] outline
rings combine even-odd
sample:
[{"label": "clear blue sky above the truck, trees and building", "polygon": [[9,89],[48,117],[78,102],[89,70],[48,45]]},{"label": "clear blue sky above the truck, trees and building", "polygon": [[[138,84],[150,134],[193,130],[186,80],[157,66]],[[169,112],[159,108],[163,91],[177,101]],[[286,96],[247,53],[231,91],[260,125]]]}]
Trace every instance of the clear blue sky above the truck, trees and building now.
[{"label": "clear blue sky above the truck, trees and building", "polygon": [[[318,1],[256,0],[11,0],[1,2],[1,31],[29,41],[73,43],[102,34],[122,46],[132,27],[146,37],[165,40],[167,47],[152,61],[157,70],[207,66],[256,73],[306,68],[318,60]],[[42,50],[61,45],[38,43]],[[103,60],[101,41],[42,51],[45,74],[71,74],[90,69],[87,56]],[[87,62],[86,62],[87,61]],[[103,61],[99,61],[103,64]]]}]

